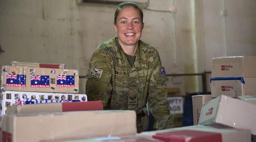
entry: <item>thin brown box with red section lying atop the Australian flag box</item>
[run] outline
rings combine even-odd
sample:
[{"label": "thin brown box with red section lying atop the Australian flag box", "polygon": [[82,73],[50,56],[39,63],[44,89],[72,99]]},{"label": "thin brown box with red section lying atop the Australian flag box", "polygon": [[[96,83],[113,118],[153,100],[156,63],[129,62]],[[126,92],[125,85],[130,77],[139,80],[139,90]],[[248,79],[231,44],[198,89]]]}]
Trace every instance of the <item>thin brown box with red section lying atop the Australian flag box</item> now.
[{"label": "thin brown box with red section lying atop the Australian flag box", "polygon": [[65,69],[65,64],[42,64],[42,63],[26,63],[26,62],[11,62],[12,66],[19,67],[43,67],[43,68],[60,68]]}]

